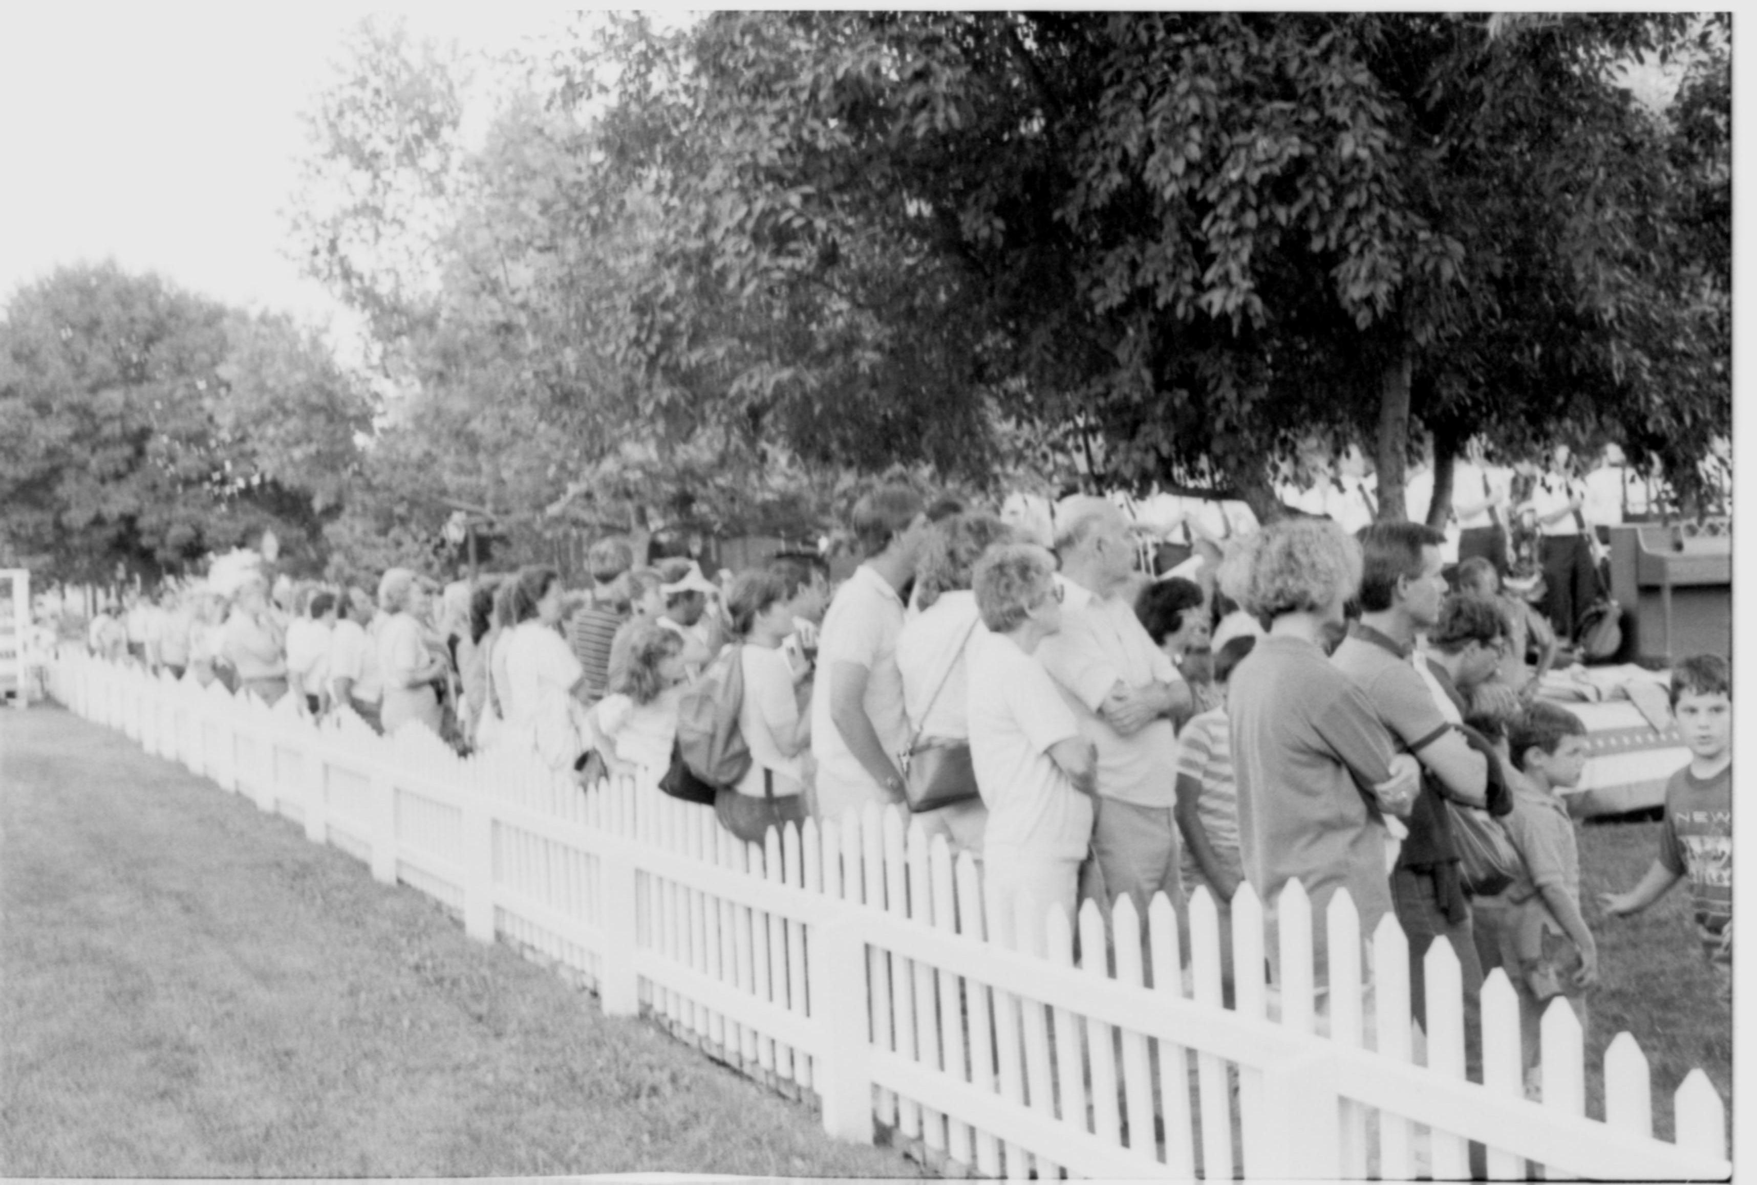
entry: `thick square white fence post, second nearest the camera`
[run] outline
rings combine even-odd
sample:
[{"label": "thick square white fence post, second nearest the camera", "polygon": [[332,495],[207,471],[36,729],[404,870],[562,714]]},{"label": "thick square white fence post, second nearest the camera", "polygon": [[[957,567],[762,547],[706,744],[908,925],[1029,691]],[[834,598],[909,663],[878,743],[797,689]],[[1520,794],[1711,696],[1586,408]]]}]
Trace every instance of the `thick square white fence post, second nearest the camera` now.
[{"label": "thick square white fence post, second nearest the camera", "polygon": [[819,1034],[812,1080],[824,1111],[824,1134],[870,1145],[875,1129],[866,936],[854,911],[813,922],[810,929],[806,974]]}]

